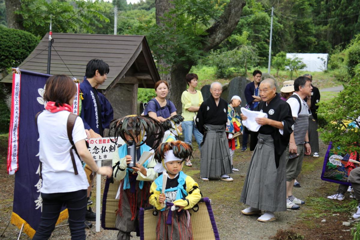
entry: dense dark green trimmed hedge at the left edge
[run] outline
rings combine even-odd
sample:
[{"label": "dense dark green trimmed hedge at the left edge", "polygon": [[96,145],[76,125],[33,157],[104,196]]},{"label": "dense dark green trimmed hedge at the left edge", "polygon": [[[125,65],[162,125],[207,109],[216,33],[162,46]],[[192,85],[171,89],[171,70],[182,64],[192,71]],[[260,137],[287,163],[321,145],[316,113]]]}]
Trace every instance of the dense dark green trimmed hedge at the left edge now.
[{"label": "dense dark green trimmed hedge at the left edge", "polygon": [[19,64],[32,52],[39,40],[29,32],[0,26],[0,71]]}]

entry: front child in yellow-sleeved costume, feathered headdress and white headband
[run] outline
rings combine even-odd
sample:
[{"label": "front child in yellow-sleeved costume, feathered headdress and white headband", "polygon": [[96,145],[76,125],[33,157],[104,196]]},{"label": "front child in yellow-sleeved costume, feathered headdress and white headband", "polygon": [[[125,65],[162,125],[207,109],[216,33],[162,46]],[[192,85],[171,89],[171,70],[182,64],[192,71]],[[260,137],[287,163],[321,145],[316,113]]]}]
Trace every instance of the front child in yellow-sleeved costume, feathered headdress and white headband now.
[{"label": "front child in yellow-sleeved costume, feathered headdress and white headband", "polygon": [[[168,174],[163,190],[163,176],[159,176],[151,185],[150,204],[160,211],[156,227],[157,240],[192,240],[191,209],[201,199],[199,185],[181,171],[184,161],[192,155],[192,148],[187,143],[173,141],[162,143],[155,151],[155,159]],[[165,174],[166,175],[166,174]],[[174,212],[171,206],[177,206]]]}]

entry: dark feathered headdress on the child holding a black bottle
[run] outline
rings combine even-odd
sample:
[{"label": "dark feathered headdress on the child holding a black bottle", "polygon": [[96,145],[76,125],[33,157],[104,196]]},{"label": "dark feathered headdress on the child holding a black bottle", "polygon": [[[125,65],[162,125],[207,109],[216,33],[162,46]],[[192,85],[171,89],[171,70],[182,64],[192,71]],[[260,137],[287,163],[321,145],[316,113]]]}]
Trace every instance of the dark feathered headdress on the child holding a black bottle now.
[{"label": "dark feathered headdress on the child holding a black bottle", "polygon": [[119,136],[126,142],[125,134],[129,135],[133,141],[135,141],[136,136],[140,135],[138,146],[145,143],[145,136],[152,136],[153,143],[149,147],[156,149],[162,142],[164,129],[159,121],[150,116],[128,115],[111,121],[110,134],[114,134],[115,139],[111,140],[112,142],[117,142]]}]

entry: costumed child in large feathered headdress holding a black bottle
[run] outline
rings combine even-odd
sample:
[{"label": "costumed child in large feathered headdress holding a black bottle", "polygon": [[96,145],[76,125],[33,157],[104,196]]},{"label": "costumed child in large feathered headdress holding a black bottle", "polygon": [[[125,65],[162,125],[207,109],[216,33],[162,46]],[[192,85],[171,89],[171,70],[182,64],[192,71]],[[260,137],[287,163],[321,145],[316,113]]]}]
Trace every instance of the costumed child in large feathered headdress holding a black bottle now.
[{"label": "costumed child in large feathered headdress holding a black bottle", "polygon": [[[158,174],[154,171],[155,160],[150,157],[143,165],[137,163],[144,152],[150,152],[158,147],[163,137],[161,124],[149,116],[130,115],[114,120],[110,125],[114,130],[115,142],[120,137],[128,144],[124,144],[113,157],[113,179],[121,181],[116,199],[119,199],[119,208],[116,212],[115,227],[119,230],[118,240],[129,240],[130,232],[136,231],[139,235],[138,212],[140,207],[149,206],[150,182],[154,181]],[[154,146],[144,144],[143,138],[147,134],[154,136]],[[136,143],[136,166],[128,168],[127,165],[133,160],[127,155],[127,148],[131,141]]]}]

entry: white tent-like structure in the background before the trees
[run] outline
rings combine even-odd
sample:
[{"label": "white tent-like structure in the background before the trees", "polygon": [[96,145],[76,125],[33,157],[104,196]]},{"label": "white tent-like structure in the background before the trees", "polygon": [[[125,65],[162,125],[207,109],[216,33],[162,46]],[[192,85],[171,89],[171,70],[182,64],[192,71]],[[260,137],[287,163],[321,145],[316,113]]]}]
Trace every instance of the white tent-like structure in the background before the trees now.
[{"label": "white tent-like structure in the background before the trees", "polygon": [[306,64],[306,67],[302,69],[303,71],[322,72],[328,68],[329,54],[327,53],[287,53],[286,57],[300,58]]}]

